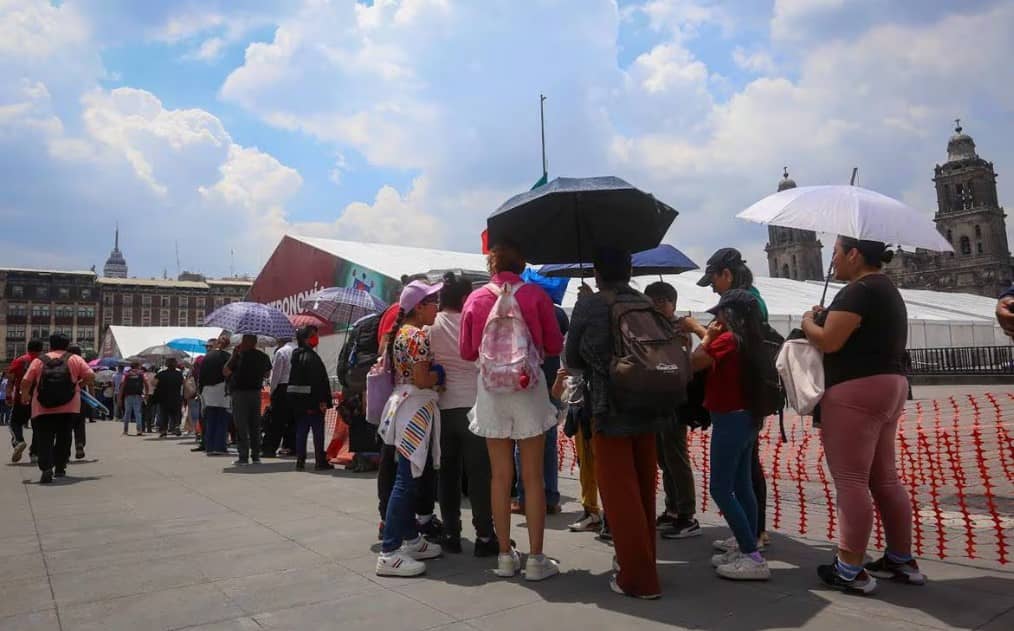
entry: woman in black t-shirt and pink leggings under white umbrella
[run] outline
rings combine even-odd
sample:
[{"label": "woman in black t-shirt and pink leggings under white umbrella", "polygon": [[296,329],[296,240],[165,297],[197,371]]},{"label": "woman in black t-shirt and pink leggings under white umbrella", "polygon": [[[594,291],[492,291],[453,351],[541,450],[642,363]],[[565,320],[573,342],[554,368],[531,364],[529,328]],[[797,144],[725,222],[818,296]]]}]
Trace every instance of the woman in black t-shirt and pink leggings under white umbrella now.
[{"label": "woman in black t-shirt and pink leggings under white umbrella", "polygon": [[[923,584],[912,557],[912,504],[894,464],[897,419],[904,408],[908,311],[881,272],[893,253],[879,241],[841,236],[835,277],[848,283],[823,313],[803,316],[803,333],[824,353],[820,439],[838,494],[838,557],[817,568],[820,579],[847,591],[870,593],[876,579]],[[872,501],[870,493],[872,491]],[[887,550],[863,566],[873,530],[873,503],[883,518]]]}]

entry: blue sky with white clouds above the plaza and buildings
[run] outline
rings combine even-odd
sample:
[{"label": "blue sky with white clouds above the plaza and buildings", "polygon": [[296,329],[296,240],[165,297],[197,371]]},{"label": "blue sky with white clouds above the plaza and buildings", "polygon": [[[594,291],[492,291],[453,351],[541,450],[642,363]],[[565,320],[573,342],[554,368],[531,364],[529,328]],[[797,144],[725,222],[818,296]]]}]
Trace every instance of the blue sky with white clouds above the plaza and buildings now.
[{"label": "blue sky with white clouds above the plaza and buildings", "polygon": [[478,252],[542,93],[550,178],[763,275],[735,214],[784,165],[929,217],[960,118],[1011,203],[1012,31],[1003,0],[0,0],[0,265],[100,271],[117,225],[140,277],[256,276],[285,233]]}]

